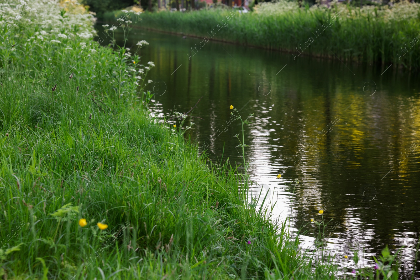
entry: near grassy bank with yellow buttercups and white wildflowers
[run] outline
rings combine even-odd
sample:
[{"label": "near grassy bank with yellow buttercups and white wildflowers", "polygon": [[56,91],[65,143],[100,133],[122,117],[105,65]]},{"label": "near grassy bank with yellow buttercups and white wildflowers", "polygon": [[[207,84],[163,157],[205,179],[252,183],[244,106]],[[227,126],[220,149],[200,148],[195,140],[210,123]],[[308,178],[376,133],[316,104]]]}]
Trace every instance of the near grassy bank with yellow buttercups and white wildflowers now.
[{"label": "near grassy bank with yellow buttercups and white wildflowers", "polygon": [[99,47],[80,5],[31,3],[0,4],[3,279],[335,278],[150,119],[152,62]]}]

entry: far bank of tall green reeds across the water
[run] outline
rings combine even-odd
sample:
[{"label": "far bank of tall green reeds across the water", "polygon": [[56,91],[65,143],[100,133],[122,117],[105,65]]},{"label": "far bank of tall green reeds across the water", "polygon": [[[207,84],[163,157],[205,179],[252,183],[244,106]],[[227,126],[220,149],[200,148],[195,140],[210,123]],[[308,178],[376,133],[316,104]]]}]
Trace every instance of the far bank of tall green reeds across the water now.
[{"label": "far bank of tall green reeds across the water", "polygon": [[[141,26],[288,51],[295,59],[315,55],[420,69],[418,3],[354,8],[333,2],[329,8],[299,8],[297,2],[280,1],[260,3],[252,13],[231,13],[221,9],[144,13]],[[115,21],[112,13],[107,18]]]}]

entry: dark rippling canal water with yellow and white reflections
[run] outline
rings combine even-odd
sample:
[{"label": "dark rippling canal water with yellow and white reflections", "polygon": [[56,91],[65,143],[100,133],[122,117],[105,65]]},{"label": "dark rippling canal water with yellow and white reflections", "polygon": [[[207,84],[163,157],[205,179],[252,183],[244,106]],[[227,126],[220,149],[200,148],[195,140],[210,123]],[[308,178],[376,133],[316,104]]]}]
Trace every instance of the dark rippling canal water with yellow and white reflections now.
[{"label": "dark rippling canal water with yellow and white reflections", "polygon": [[323,209],[324,220],[334,219],[328,247],[340,267],[354,267],[344,255],[355,250],[372,265],[386,244],[393,252],[405,246],[402,278],[411,278],[420,217],[417,74],[218,42],[189,59],[202,39],[139,29],[127,47],[142,39],[150,43],[142,63],[156,65],[147,77],[156,95],[151,115],[185,113],[201,98],[189,136],[213,162],[223,153],[233,164],[242,160],[240,126],[229,121],[229,106],[253,113],[245,131],[249,172],[260,184],[253,194],[268,193],[275,217],[307,231],[302,246],[311,246],[310,220],[320,221]]}]

